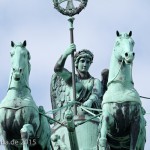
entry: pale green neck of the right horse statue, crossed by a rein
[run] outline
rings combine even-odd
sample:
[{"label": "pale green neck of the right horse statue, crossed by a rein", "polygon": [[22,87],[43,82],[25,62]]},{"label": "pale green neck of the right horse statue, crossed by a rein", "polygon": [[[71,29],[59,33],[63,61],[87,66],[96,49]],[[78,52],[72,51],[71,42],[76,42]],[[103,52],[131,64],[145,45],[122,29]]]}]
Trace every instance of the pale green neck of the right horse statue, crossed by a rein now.
[{"label": "pale green neck of the right horse statue, crossed by a rein", "polygon": [[110,62],[108,86],[114,84],[118,87],[133,87],[132,64],[118,61],[113,54]]}]

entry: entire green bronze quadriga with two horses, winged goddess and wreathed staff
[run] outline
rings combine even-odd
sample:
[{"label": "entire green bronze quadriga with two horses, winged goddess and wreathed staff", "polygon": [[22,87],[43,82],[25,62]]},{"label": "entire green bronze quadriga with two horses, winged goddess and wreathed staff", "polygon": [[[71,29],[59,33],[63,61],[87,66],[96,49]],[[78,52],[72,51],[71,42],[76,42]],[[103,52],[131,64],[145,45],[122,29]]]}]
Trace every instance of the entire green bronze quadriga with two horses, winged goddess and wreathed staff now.
[{"label": "entire green bronze quadriga with two horses, winged goddess and wreathed staff", "polygon": [[[0,103],[0,131],[6,150],[144,150],[145,110],[132,79],[132,32],[116,32],[110,68],[103,70],[100,82],[89,73],[93,53],[87,49],[76,52],[72,16],[79,14],[88,0],[77,1],[78,7],[73,0],[53,0],[54,7],[70,17],[70,46],[57,61],[50,83],[53,118],[32,98],[26,41],[11,42],[8,91]],[[72,72],[65,69],[69,56]],[[51,120],[55,122],[52,136]]]}]

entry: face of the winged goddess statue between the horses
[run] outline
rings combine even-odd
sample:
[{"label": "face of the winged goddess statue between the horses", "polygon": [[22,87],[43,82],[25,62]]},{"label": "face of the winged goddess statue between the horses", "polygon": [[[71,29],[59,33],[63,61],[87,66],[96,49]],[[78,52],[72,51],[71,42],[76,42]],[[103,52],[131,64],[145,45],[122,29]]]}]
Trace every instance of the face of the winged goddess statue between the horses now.
[{"label": "face of the winged goddess statue between the horses", "polygon": [[78,62],[78,70],[82,73],[88,72],[90,65],[91,60],[88,57],[82,57]]}]

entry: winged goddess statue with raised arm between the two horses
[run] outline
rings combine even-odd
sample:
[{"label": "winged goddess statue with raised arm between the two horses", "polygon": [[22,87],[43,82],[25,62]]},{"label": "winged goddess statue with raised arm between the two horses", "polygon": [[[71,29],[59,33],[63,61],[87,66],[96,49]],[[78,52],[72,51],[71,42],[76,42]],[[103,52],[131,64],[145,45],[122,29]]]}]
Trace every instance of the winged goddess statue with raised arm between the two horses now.
[{"label": "winged goddess statue with raised arm between the two horses", "polygon": [[[57,61],[51,82],[51,100],[53,109],[63,107],[69,102],[73,102],[72,97],[72,73],[64,66],[66,59],[76,49],[75,44],[70,44],[69,48],[61,55]],[[99,79],[94,78],[89,73],[89,68],[93,62],[94,55],[87,49],[82,49],[74,55],[74,63],[77,74],[75,75],[76,101],[85,107],[100,108],[102,87]],[[60,111],[59,111],[60,113]],[[64,114],[59,114],[59,119]]]}]

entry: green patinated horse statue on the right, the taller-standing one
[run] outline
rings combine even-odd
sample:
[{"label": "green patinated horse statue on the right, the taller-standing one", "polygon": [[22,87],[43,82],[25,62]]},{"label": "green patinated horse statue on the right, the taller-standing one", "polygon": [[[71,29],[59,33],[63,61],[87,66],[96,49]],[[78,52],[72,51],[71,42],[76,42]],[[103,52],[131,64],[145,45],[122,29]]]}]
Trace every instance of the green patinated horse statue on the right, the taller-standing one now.
[{"label": "green patinated horse statue on the right, the taller-standing one", "polygon": [[132,32],[117,33],[113,49],[108,89],[103,96],[99,149],[144,150],[145,111],[134,88],[132,65],[135,53]]}]

